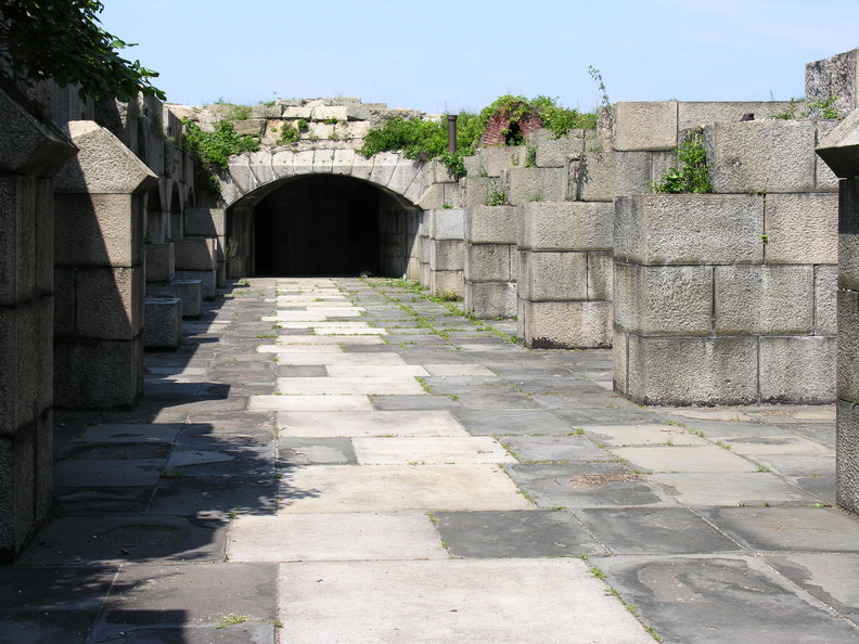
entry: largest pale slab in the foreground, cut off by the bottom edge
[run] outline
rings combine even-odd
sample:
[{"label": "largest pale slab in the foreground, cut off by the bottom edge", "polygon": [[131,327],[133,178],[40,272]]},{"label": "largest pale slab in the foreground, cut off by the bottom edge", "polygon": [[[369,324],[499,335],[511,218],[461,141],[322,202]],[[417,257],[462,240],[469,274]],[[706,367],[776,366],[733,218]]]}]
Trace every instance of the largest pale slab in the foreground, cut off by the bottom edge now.
[{"label": "largest pale slab in the foreground, cut off by the bottom edge", "polygon": [[578,559],[282,564],[280,591],[296,643],[653,641]]}]

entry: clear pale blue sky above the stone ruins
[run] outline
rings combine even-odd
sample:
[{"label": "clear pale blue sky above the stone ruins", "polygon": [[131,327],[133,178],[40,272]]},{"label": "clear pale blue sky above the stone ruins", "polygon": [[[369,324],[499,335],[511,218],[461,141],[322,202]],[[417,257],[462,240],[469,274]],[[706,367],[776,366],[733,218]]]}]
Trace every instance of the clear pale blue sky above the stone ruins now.
[{"label": "clear pale blue sky above the stone ruins", "polygon": [[430,113],[505,93],[767,101],[859,48],[858,0],[103,0],[170,102],[361,96]]}]

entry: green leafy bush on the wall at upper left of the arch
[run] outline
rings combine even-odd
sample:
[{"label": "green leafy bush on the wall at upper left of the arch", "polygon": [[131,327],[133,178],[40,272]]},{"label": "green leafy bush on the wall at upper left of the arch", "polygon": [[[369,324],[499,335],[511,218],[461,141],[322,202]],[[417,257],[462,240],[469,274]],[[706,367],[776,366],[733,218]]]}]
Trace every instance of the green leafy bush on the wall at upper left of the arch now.
[{"label": "green leafy bush on the wall at upper left of the arch", "polygon": [[182,125],[184,147],[194,155],[196,179],[214,194],[220,194],[217,173],[227,169],[231,156],[259,150],[259,138],[240,137],[229,120],[219,121],[214,132],[204,132],[188,118],[182,119]]}]

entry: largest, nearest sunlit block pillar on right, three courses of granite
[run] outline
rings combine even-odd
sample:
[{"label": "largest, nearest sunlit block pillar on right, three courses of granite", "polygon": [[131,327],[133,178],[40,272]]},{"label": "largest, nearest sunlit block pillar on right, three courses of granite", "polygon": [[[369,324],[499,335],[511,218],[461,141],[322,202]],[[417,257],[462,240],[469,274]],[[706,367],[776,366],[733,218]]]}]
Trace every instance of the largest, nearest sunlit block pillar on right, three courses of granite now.
[{"label": "largest, nearest sunlit block pillar on right, three courses of granite", "polygon": [[831,402],[833,197],[619,197],[615,388],[644,404]]}]

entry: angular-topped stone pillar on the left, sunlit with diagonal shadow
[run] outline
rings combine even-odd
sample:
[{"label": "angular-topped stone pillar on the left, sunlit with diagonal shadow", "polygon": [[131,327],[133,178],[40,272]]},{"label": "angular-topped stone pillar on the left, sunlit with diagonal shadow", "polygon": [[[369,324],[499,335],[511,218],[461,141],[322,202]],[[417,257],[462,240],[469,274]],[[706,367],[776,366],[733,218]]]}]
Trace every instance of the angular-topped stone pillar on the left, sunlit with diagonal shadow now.
[{"label": "angular-topped stone pillar on the left, sunlit with diagonal shadow", "polygon": [[65,409],[131,407],[143,392],[143,195],[155,175],[93,121],[54,195],[54,394]]}]

